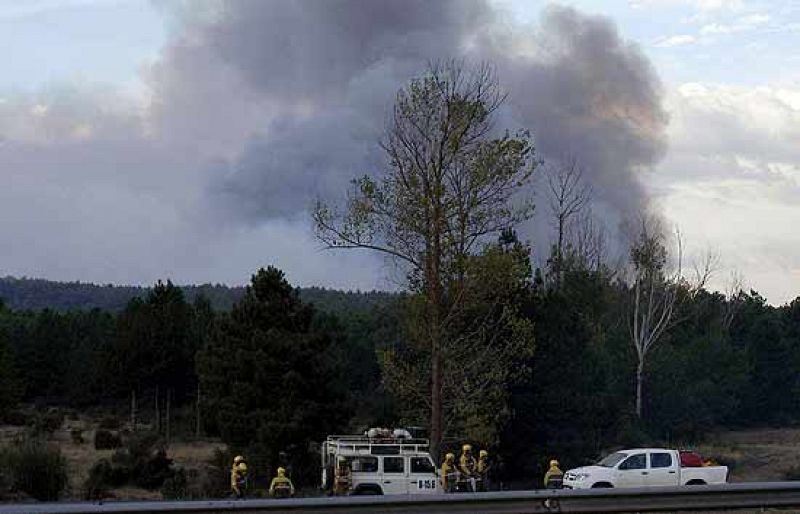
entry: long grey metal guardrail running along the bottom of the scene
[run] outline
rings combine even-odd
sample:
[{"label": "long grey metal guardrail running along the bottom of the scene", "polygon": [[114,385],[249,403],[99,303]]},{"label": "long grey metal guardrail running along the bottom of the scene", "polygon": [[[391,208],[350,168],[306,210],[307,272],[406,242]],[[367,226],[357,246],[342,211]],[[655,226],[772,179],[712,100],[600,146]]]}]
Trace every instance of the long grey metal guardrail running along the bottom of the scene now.
[{"label": "long grey metal guardrail running along the bottom of the scene", "polygon": [[660,512],[800,507],[800,482],[739,483],[577,491],[510,491],[433,496],[351,496],[289,500],[31,503],[0,505],[0,514],[343,513],[343,512]]}]

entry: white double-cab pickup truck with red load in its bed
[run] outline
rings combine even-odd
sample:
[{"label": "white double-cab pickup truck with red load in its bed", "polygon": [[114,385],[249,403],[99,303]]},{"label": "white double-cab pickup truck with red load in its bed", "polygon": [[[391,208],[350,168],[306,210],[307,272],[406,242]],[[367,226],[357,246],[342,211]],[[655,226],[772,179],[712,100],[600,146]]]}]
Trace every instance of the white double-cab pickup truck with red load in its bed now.
[{"label": "white double-cab pickup truck with red load in its bed", "polygon": [[724,484],[726,466],[681,466],[678,450],[636,448],[612,453],[594,466],[564,473],[564,488]]}]

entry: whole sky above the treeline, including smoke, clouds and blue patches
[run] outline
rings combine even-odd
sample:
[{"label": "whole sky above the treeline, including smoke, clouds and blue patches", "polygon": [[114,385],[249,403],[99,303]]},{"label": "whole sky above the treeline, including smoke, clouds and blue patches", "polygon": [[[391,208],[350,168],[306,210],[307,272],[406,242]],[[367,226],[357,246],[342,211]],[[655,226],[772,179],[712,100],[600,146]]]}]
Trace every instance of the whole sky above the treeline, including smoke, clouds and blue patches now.
[{"label": "whole sky above the treeline, including smoke, clouds and blue patches", "polygon": [[[644,207],[800,295],[800,1],[0,0],[0,276],[393,288],[322,248],[316,197],[380,169],[429,59],[497,66],[510,127],[575,156],[612,232]],[[543,202],[540,202],[543,203]],[[547,247],[546,212],[521,227]],[[540,255],[541,257],[541,255]]]}]

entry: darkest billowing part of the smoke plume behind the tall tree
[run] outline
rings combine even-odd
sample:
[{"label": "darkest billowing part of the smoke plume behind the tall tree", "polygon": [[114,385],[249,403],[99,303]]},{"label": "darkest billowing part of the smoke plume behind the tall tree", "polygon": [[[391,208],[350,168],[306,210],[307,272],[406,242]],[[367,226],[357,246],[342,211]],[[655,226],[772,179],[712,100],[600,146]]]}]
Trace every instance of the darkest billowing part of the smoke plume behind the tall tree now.
[{"label": "darkest billowing part of the smoke plume behind the tall tree", "polygon": [[509,29],[479,1],[227,6],[165,63],[203,56],[199,70],[183,69],[180,85],[168,85],[185,91],[187,81],[208,81],[211,55],[271,106],[256,124],[260,135],[214,187],[248,219],[292,216],[378,169],[375,143],[396,90],[448,57],[497,67],[509,92],[505,124],[532,129],[548,159],[576,158],[612,225],[647,204],[637,173],[664,150],[660,85],[607,18],[550,7],[541,28]]}]

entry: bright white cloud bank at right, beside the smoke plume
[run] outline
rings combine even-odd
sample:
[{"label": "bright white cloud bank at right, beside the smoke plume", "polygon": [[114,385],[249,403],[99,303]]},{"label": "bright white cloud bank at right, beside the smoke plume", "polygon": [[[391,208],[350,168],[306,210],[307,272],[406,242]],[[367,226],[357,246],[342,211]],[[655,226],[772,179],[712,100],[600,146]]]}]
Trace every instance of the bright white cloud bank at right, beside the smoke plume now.
[{"label": "bright white cloud bank at right, beside the smoke plume", "polygon": [[652,177],[666,215],[770,302],[800,295],[800,86],[687,83],[668,109],[671,149]]}]

